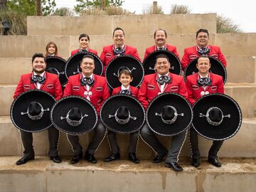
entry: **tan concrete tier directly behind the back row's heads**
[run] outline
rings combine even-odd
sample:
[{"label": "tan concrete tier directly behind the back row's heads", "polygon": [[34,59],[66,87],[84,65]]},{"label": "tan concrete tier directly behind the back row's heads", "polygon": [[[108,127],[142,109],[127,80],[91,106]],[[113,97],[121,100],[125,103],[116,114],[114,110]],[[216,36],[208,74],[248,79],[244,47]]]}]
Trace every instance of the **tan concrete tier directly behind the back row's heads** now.
[{"label": "tan concrete tier directly behind the back row's heads", "polygon": [[[182,57],[184,48],[196,44],[195,33],[196,31],[194,33],[169,31],[167,43],[176,46]],[[60,56],[68,58],[71,50],[79,46],[78,36],[0,36],[0,58],[31,58],[33,53],[46,53],[46,44],[49,41],[57,44]],[[136,47],[142,58],[146,48],[154,45],[153,33],[125,33],[125,37],[127,45]],[[256,33],[211,33],[210,44],[220,46],[225,56],[255,56],[255,38]],[[110,44],[112,44],[112,32],[107,35],[90,35],[90,47],[97,50],[98,55],[102,52],[103,46]]]}]

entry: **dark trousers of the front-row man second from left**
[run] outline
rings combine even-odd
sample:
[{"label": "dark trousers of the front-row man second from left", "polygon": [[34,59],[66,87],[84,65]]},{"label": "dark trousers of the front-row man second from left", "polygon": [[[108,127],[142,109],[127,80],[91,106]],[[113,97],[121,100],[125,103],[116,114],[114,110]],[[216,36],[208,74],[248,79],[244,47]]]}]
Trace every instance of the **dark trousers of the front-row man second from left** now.
[{"label": "dark trousers of the front-row man second from left", "polygon": [[[102,143],[106,134],[106,128],[102,124],[101,120],[99,119],[97,122],[97,126],[95,127],[95,134],[92,138],[92,142],[90,142],[89,146],[87,147],[87,152],[89,154],[95,154],[98,147]],[[68,135],[68,140],[72,146],[75,155],[79,155],[82,153],[82,146],[79,143],[78,135]]]}]

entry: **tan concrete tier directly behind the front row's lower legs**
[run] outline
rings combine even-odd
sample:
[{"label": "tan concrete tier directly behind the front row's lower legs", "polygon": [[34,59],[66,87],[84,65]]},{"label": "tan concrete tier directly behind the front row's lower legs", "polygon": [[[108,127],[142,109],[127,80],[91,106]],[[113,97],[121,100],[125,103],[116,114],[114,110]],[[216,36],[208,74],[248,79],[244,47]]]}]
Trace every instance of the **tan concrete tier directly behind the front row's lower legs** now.
[{"label": "tan concrete tier directly behind the front row's lower legs", "polygon": [[[256,158],[256,118],[243,119],[242,127],[238,134],[224,142],[222,148],[219,151],[220,157],[248,157]],[[92,139],[93,132],[90,134],[84,134],[80,136],[80,143],[85,151],[87,145]],[[159,137],[159,140],[169,149],[171,143],[171,137]],[[0,117],[0,156],[8,155],[21,155],[23,152],[20,134],[18,129],[12,124],[10,117]],[[242,141],[242,142],[241,142]],[[129,135],[117,134],[117,142],[119,144],[120,153],[122,159],[127,159]],[[208,150],[212,142],[203,137],[199,137],[199,148],[201,149],[201,156],[208,156]],[[8,147],[7,147],[8,146]],[[33,146],[38,156],[46,156],[48,154],[48,132],[39,132],[33,134]],[[73,151],[70,143],[66,137],[66,134],[60,132],[60,139],[58,144],[60,156],[72,156]],[[110,154],[110,147],[107,141],[107,137],[103,140],[95,156],[97,158],[105,158]],[[145,144],[141,138],[137,146],[137,156],[139,159],[153,159],[154,151]],[[181,150],[181,157],[191,155],[191,148],[188,142],[188,134],[186,142]]]}]

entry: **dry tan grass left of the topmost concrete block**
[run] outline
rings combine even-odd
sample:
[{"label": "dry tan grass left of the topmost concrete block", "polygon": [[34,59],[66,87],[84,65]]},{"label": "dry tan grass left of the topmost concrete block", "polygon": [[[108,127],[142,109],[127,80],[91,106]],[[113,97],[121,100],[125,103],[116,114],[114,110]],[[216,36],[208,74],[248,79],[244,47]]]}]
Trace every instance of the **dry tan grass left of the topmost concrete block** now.
[{"label": "dry tan grass left of the topmost concrete block", "polygon": [[[9,21],[11,28],[9,35],[26,35],[26,15],[16,11],[0,11],[0,22]],[[3,28],[0,28],[0,34],[3,34]]]}]

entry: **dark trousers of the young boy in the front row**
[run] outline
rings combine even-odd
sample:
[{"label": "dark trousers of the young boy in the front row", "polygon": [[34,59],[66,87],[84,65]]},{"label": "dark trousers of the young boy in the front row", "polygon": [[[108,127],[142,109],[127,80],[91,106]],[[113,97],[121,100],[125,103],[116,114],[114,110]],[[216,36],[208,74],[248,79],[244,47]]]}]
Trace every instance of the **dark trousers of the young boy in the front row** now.
[{"label": "dark trousers of the young boy in the front row", "polygon": [[[139,139],[139,131],[130,133],[130,142],[129,142],[129,153],[135,153],[137,148],[137,143]],[[110,141],[110,147],[112,154],[119,153],[119,146],[117,144],[117,134],[112,131],[107,132],[107,137]]]}]

